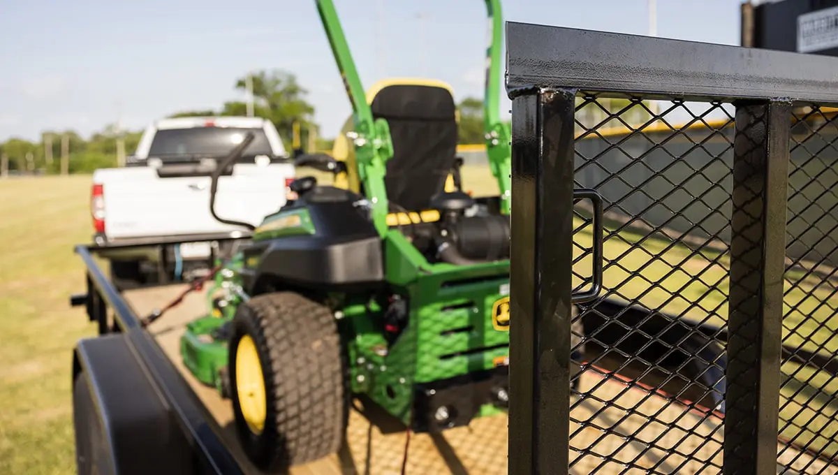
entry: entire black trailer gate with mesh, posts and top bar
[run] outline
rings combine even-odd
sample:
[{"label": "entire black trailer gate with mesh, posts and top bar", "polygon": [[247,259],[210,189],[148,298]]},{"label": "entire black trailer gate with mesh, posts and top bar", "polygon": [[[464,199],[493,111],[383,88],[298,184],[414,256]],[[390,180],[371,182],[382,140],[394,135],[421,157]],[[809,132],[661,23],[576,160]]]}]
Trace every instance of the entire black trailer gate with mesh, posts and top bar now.
[{"label": "entire black trailer gate with mesh, posts and top bar", "polygon": [[835,473],[838,60],[507,38],[510,473]]}]

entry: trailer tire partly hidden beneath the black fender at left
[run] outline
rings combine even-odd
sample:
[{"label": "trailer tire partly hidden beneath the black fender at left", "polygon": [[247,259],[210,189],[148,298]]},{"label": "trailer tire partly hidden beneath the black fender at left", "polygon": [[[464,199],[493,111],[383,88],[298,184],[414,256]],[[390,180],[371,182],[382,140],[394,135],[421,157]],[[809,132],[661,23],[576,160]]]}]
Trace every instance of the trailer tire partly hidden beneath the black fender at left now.
[{"label": "trailer tire partly hidden beneath the black fender at left", "polygon": [[79,475],[112,473],[113,461],[108,456],[102,427],[96,414],[90,379],[85,372],[73,381],[73,428],[75,430],[75,467]]}]

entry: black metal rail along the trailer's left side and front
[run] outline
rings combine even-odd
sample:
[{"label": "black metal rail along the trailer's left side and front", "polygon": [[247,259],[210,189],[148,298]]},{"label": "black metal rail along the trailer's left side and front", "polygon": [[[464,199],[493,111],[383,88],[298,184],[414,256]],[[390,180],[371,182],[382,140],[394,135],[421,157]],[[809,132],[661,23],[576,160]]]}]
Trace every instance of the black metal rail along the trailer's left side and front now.
[{"label": "black metal rail along the trailer's left side and front", "polygon": [[[235,238],[223,240],[235,240]],[[191,241],[193,240],[166,240],[166,244]],[[131,246],[137,246],[137,244],[125,247]],[[85,264],[87,292],[71,297],[71,305],[85,306],[91,321],[99,323],[100,334],[116,331],[126,336],[125,341],[132,349],[137,364],[144,369],[153,387],[157,388],[158,394],[163,397],[169,408],[170,416],[175,418],[193,447],[196,467],[203,467],[202,472],[207,473],[243,473],[228,447],[221,440],[220,428],[212,420],[212,416],[189,387],[183,375],[163,353],[163,349],[153,336],[142,328],[141,318],[96,263],[95,255],[98,251],[112,250],[115,247],[117,246],[104,248],[96,245],[77,245],[75,247],[75,253]],[[113,313],[113,324],[109,322],[108,309],[111,309]],[[142,442],[139,443],[142,444]]]}]

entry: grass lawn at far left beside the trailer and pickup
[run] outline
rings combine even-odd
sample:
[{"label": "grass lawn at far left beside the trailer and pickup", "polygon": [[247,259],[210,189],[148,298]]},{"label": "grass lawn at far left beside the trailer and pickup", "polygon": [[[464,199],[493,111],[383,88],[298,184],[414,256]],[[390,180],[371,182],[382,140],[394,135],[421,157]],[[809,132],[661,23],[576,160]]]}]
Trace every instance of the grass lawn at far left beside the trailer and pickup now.
[{"label": "grass lawn at far left beside the trailer and pickup", "polygon": [[75,342],[95,333],[73,244],[91,238],[90,176],[0,181],[0,473],[75,473]]}]

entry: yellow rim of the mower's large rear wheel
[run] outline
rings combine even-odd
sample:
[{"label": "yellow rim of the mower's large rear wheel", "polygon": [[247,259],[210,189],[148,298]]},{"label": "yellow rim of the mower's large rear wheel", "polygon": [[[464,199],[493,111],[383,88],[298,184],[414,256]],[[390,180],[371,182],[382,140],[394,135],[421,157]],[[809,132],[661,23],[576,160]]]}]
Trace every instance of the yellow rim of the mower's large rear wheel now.
[{"label": "yellow rim of the mower's large rear wheel", "polygon": [[260,435],[267,416],[265,379],[256,343],[248,335],[241,337],[235,349],[235,392],[247,426],[256,436]]}]

